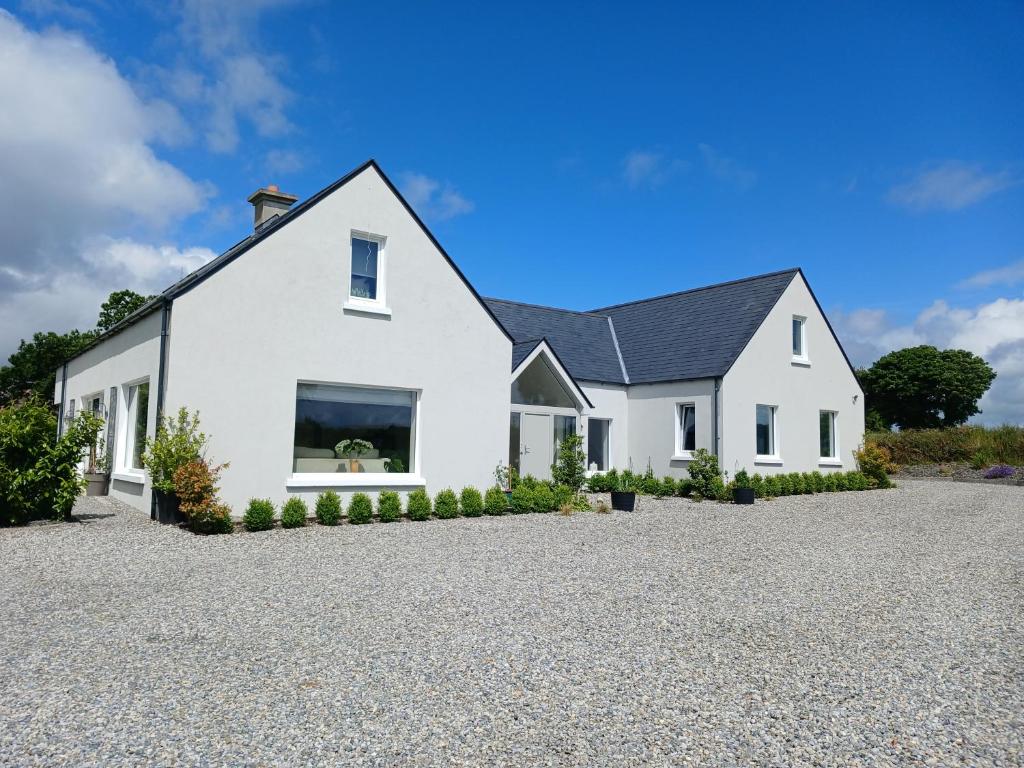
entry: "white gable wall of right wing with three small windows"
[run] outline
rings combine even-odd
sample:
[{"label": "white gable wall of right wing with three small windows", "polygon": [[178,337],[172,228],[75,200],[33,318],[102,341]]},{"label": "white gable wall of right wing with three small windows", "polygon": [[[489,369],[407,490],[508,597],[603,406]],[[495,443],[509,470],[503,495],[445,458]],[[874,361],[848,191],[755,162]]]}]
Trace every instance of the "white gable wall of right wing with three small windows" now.
[{"label": "white gable wall of right wing with three small windows", "polygon": [[[809,366],[793,361],[793,316],[807,317]],[[781,464],[758,462],[756,407],[777,406]],[[856,469],[853,452],[864,438],[864,395],[800,275],[794,278],[722,383],[723,461],[737,469],[776,474]],[[839,414],[837,463],[819,461],[818,413]]]}]

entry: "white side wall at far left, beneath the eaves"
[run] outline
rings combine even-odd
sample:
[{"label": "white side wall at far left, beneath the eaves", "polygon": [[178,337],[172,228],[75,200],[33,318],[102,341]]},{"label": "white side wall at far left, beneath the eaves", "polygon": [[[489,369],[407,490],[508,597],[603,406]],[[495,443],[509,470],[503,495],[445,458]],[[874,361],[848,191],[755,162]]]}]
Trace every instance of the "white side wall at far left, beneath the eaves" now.
[{"label": "white side wall at far left, beneath the eaves", "polygon": [[[115,442],[115,466],[111,478],[110,495],[118,501],[150,514],[150,484],[135,481],[130,473],[119,473],[119,465],[125,455],[125,426],[127,424],[127,402],[122,385],[148,378],[150,413],[146,437],[156,434],[157,427],[157,377],[160,365],[161,312],[157,310],[121,333],[100,342],[84,354],[68,364],[68,382],[63,397],[65,413],[68,402],[75,398],[75,413],[82,410],[82,398],[100,393],[103,404],[110,408],[111,387],[118,387],[116,426],[118,439]],[[57,369],[55,402],[60,401],[61,370]]]}]

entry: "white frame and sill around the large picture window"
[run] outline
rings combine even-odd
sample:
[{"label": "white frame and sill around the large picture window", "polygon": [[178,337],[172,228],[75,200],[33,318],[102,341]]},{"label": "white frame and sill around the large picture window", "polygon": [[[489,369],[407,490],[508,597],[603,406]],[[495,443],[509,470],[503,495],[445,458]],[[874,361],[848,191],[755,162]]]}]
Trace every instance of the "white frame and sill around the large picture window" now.
[{"label": "white frame and sill around the large picture window", "polygon": [[[289,463],[292,467],[289,475],[285,478],[285,486],[289,488],[330,488],[330,487],[394,487],[414,488],[426,485],[426,480],[421,474],[423,466],[423,455],[421,452],[422,442],[422,418],[423,418],[423,390],[413,387],[401,386],[378,386],[370,384],[352,384],[338,381],[318,381],[312,379],[298,379],[295,383],[295,393],[292,398],[292,427],[294,430],[295,419],[298,410],[298,387],[300,384],[318,384],[328,387],[346,387],[349,389],[369,389],[387,392],[408,392],[413,396],[413,444],[411,447],[411,463],[413,472],[296,472],[294,456],[290,457]],[[292,447],[294,451],[294,433],[292,436]]]}]

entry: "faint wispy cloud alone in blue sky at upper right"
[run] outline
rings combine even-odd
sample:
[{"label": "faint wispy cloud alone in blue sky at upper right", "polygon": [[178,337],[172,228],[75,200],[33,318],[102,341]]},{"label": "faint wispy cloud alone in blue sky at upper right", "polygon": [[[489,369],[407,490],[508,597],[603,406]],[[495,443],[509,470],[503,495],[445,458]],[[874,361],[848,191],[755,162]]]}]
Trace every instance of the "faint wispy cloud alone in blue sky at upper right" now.
[{"label": "faint wispy cloud alone in blue sky at upper right", "polygon": [[911,211],[958,211],[1018,183],[1008,170],[985,172],[979,166],[949,161],[922,170],[889,190],[891,204]]}]

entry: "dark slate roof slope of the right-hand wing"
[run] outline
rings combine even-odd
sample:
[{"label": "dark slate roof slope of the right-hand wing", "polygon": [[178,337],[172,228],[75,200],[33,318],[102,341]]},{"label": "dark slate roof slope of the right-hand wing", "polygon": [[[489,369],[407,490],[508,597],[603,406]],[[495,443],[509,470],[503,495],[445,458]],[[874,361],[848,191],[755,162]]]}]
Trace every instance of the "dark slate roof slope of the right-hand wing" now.
[{"label": "dark slate roof slope of the right-hand wing", "polygon": [[799,273],[785,269],[594,311],[614,323],[631,384],[724,376]]}]

